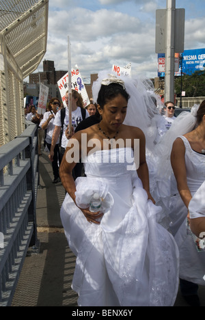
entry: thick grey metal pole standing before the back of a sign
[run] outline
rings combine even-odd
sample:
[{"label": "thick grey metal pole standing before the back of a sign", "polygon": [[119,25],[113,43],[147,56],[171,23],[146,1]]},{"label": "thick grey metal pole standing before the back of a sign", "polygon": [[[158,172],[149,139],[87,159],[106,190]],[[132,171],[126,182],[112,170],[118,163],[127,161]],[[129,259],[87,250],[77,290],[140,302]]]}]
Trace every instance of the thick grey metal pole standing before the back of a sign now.
[{"label": "thick grey metal pole standing before the back of a sign", "polygon": [[174,102],[174,29],[176,0],[167,0],[165,44],[165,101]]}]

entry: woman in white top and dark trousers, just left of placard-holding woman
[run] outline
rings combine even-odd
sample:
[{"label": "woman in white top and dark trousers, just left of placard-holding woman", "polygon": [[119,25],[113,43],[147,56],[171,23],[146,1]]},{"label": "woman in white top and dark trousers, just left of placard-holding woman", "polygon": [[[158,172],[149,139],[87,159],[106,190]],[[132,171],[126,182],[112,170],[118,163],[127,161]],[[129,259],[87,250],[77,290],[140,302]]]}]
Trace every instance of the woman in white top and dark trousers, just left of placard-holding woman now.
[{"label": "woman in white top and dark trousers, just left of placard-holding woman", "polygon": [[[51,141],[53,136],[53,131],[55,128],[55,125],[53,124],[55,119],[55,114],[57,114],[57,111],[60,107],[61,103],[59,102],[58,98],[52,98],[49,101],[48,109],[49,111],[44,113],[44,118],[40,122],[40,127],[42,129],[47,129],[46,132],[46,146],[49,148],[49,151],[51,150]],[[59,159],[59,138],[57,139],[57,143],[55,144],[54,148],[54,156],[52,161],[52,167],[53,167],[53,183],[58,183],[60,181],[59,179],[59,166],[58,166],[58,160]]]}]

